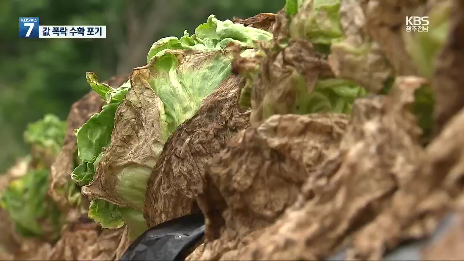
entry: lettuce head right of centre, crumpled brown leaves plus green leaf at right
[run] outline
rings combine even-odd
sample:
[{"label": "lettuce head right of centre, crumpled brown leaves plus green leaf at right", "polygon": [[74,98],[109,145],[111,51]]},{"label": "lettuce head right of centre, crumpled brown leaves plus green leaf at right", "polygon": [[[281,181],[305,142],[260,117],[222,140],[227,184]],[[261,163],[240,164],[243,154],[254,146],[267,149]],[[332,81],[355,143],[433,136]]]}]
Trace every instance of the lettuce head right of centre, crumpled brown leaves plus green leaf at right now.
[{"label": "lettuce head right of centre, crumpled brown leaves plus green leaf at right", "polygon": [[245,78],[239,104],[251,107],[250,121],[258,126],[275,114],[351,113],[355,98],[367,94],[353,81],[335,78],[328,62],[308,40],[271,42],[258,52],[234,60]]}]

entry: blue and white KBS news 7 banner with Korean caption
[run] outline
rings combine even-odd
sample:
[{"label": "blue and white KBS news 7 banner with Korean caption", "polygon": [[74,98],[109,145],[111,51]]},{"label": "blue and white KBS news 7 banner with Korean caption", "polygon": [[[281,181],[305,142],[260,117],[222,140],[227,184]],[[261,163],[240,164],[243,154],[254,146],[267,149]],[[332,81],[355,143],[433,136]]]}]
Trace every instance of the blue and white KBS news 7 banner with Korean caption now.
[{"label": "blue and white KBS news 7 banner with Korean caption", "polygon": [[20,38],[106,38],[106,26],[40,26],[39,17],[19,17]]}]

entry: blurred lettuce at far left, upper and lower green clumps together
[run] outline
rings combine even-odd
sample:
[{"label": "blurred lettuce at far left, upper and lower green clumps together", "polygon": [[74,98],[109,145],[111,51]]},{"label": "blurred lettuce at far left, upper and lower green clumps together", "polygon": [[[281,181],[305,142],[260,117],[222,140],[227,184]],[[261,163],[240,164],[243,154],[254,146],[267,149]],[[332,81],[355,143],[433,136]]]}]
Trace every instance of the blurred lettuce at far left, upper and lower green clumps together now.
[{"label": "blurred lettuce at far left, upper and lower green clumps together", "polygon": [[31,145],[32,161],[26,174],[11,181],[0,196],[0,206],[6,209],[15,230],[26,237],[55,240],[59,236],[63,215],[48,195],[49,165],[64,143],[66,123],[47,114],[28,124],[24,140]]}]

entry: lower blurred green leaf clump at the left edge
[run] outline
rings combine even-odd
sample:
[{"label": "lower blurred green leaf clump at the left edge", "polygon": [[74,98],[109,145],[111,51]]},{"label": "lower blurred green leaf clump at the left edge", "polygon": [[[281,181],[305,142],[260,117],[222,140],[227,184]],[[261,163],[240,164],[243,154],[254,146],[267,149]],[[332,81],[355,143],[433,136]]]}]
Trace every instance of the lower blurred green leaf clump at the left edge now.
[{"label": "lower blurred green leaf clump at the left edge", "polygon": [[23,236],[55,240],[62,225],[60,211],[47,194],[48,170],[31,170],[12,181],[1,196],[1,206],[10,214],[16,230]]}]

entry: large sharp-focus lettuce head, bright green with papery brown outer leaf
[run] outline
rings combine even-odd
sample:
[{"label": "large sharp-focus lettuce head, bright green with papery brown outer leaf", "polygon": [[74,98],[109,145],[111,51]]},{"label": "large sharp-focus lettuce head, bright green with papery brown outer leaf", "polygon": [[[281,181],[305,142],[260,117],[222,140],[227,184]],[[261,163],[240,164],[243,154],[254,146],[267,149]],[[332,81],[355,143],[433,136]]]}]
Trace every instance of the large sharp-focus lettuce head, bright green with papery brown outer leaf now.
[{"label": "large sharp-focus lettuce head, bright green with papery brown outer leaf", "polygon": [[146,66],[119,88],[87,81],[107,102],[76,131],[80,165],[71,174],[93,197],[89,217],[106,228],[126,223],[133,238],[145,229],[145,186],[168,137],[231,75],[231,43],[243,49],[269,41],[264,30],[211,15],[195,33],[158,40]]}]

